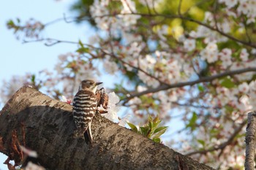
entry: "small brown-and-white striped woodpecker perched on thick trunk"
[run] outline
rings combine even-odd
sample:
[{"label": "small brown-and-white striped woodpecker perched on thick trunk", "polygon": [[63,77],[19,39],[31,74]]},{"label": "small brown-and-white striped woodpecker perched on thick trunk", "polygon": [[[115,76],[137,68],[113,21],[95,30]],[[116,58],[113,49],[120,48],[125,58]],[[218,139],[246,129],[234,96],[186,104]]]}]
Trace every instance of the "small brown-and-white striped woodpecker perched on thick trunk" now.
[{"label": "small brown-and-white striped woodpecker perched on thick trunk", "polygon": [[97,110],[97,97],[95,96],[97,86],[102,82],[94,80],[83,80],[80,82],[78,93],[73,100],[73,118],[77,132],[83,135],[86,143],[92,144],[91,121]]}]

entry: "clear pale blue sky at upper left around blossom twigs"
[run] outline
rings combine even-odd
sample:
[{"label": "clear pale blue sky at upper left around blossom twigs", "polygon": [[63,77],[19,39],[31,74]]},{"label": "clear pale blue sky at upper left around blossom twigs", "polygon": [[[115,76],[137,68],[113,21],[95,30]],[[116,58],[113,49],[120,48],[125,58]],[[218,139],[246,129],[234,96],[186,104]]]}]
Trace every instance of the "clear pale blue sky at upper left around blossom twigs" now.
[{"label": "clear pale blue sky at upper left around blossom twigs", "polygon": [[[68,44],[46,47],[42,42],[22,44],[21,41],[15,39],[12,31],[7,29],[7,20],[20,18],[25,22],[29,18],[34,18],[42,23],[48,23],[56,18],[62,18],[64,13],[70,16],[69,4],[71,2],[71,0],[2,1],[0,6],[0,88],[2,80],[10,80],[12,75],[24,75],[27,72],[37,73],[42,69],[53,70],[59,54],[72,52],[77,47]],[[43,35],[70,41],[82,39],[86,42],[89,31],[89,26],[76,26],[61,21],[46,28]],[[2,164],[5,159],[6,156],[0,153],[1,170],[7,170],[7,166]]]}]

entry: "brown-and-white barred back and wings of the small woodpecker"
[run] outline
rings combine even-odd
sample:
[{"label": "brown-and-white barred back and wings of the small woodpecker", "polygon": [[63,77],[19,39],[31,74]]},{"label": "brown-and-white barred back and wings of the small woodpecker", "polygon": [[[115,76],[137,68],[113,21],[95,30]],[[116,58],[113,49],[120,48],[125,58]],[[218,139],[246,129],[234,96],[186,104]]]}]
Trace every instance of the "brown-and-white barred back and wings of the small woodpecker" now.
[{"label": "brown-and-white barred back and wings of the small woodpecker", "polygon": [[[97,98],[89,90],[79,90],[73,101],[73,117],[78,132],[86,132],[97,109]],[[90,132],[91,133],[91,132]]]}]

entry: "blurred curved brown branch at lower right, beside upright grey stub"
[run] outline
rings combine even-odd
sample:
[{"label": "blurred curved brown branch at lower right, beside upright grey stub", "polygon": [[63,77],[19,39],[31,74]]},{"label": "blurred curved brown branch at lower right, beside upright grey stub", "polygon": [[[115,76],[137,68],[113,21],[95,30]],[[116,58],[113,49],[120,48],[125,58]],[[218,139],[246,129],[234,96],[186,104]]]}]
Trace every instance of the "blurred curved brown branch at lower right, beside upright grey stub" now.
[{"label": "blurred curved brown branch at lower right, beside upright grey stub", "polygon": [[217,147],[212,147],[211,149],[208,149],[208,150],[197,150],[197,151],[194,151],[194,152],[189,152],[185,155],[187,156],[190,156],[190,155],[195,155],[197,153],[200,153],[200,154],[205,154],[207,152],[212,152],[214,150],[224,150],[225,147],[227,147],[227,145],[231,144],[233,142],[233,139],[235,139],[236,135],[239,134],[239,132],[242,130],[242,128],[244,128],[244,125],[246,125],[247,123],[247,120],[244,120],[243,123],[241,123],[238,128],[236,128],[236,130],[233,132],[233,134],[227,139],[226,142],[223,142],[222,144],[219,144],[219,146]]}]

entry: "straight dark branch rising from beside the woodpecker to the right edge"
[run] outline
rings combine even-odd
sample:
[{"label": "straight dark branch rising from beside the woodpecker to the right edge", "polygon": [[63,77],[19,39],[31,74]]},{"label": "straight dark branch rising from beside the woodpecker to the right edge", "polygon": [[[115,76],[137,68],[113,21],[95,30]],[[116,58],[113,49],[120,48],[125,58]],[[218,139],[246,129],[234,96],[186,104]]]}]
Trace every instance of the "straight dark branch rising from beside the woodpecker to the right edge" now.
[{"label": "straight dark branch rising from beside the woodpecker to the right edge", "polygon": [[222,72],[220,74],[215,74],[215,75],[212,75],[212,76],[209,76],[209,77],[201,77],[198,80],[190,81],[190,82],[178,82],[178,83],[173,84],[173,85],[160,85],[158,88],[151,88],[151,89],[142,91],[140,93],[131,94],[129,97],[124,98],[124,104],[127,103],[130,99],[132,99],[134,97],[143,96],[143,95],[148,94],[148,93],[156,93],[156,92],[159,92],[161,90],[168,90],[170,88],[181,88],[181,87],[184,87],[184,86],[187,86],[187,85],[192,86],[192,85],[198,84],[200,82],[211,82],[212,80],[215,80],[215,79],[218,79],[218,78],[221,78],[221,77],[233,76],[235,74],[242,74],[242,73],[245,73],[245,72],[256,72],[256,67]]}]

